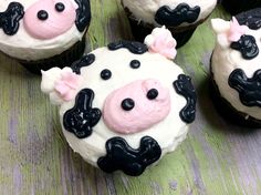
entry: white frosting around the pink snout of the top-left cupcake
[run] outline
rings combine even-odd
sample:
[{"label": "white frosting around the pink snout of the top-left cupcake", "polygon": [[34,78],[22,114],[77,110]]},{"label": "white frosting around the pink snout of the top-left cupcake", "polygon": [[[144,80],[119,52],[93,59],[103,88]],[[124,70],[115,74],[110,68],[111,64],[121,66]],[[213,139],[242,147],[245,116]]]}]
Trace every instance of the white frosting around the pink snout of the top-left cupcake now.
[{"label": "white frosting around the pink snout of the top-left cupcake", "polygon": [[[3,2],[2,2],[3,1]],[[13,0],[1,0],[0,12],[6,11],[7,7]],[[20,2],[24,11],[33,4],[36,0],[17,0]],[[77,4],[71,0],[75,8]],[[82,40],[84,32],[80,32],[75,24],[66,32],[50,40],[39,40],[32,38],[24,30],[22,20],[20,20],[19,31],[14,35],[8,35],[0,29],[0,50],[15,59],[34,61],[46,59],[61,54],[63,51],[70,49],[74,43]]]}]

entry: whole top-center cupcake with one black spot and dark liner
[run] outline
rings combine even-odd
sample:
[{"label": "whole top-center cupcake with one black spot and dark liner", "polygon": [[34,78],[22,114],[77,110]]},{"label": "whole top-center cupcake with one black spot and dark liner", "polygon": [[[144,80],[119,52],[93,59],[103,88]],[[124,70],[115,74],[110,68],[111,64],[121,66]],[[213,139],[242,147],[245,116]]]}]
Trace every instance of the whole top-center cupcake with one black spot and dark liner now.
[{"label": "whole top-center cupcake with one black spot and dark liner", "polygon": [[166,25],[184,45],[212,12],[217,0],[122,0],[133,35],[142,41],[155,27]]}]

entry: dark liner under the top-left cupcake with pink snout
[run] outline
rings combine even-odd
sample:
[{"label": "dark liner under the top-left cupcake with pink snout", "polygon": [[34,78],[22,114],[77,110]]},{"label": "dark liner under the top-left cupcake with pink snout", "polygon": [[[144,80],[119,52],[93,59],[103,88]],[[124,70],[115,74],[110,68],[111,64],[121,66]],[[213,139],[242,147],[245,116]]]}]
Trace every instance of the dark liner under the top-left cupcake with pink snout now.
[{"label": "dark liner under the top-left cupcake with pink snout", "polygon": [[62,52],[61,54],[54,55],[49,59],[36,60],[36,61],[25,61],[17,59],[28,71],[34,74],[41,74],[41,70],[49,70],[53,66],[64,68],[71,65],[74,61],[79,60],[85,50],[85,35],[83,39],[75,44],[73,44],[69,50]]}]

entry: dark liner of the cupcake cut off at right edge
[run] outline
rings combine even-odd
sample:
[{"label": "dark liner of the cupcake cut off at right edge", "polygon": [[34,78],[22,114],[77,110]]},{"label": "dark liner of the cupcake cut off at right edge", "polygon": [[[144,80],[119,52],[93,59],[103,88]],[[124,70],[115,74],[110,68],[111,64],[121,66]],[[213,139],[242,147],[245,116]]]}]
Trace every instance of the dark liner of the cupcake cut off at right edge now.
[{"label": "dark liner of the cupcake cut off at right edge", "polygon": [[225,98],[221,96],[218,85],[213,80],[212,73],[209,83],[209,93],[212,99],[213,105],[218,113],[226,121],[244,127],[261,127],[261,120],[254,119],[246,113],[239,112]]}]

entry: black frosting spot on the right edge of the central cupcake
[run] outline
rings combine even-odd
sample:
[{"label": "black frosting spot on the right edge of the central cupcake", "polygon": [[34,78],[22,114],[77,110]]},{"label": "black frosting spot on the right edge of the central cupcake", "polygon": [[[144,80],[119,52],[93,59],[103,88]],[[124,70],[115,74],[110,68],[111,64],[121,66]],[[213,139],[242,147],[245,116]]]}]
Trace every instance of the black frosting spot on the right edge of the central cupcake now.
[{"label": "black frosting spot on the right edge of the central cupcake", "polygon": [[179,74],[174,83],[174,89],[187,100],[187,104],[179,112],[180,119],[186,123],[191,123],[196,116],[197,95],[191,83],[191,79],[185,74]]}]

